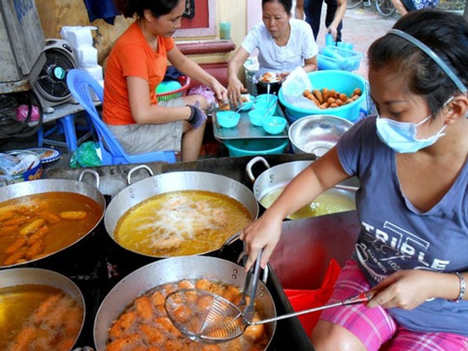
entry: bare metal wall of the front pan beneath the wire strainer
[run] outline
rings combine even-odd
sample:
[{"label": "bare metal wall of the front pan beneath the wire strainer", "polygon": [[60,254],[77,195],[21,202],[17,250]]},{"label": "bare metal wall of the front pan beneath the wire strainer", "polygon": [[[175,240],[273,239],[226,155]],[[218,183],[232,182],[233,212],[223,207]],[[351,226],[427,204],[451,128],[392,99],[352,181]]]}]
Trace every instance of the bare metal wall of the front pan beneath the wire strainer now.
[{"label": "bare metal wall of the front pan beneath the wire strainer", "polygon": [[[209,256],[179,256],[141,267],[118,282],[100,304],[94,320],[96,351],[105,351],[109,327],[136,297],[161,284],[200,278],[232,284],[242,289],[246,273],[243,267],[233,262]],[[263,307],[265,317],[276,316],[273,297],[263,282],[257,286],[256,299]],[[275,329],[276,322],[266,324],[268,345]]]}]

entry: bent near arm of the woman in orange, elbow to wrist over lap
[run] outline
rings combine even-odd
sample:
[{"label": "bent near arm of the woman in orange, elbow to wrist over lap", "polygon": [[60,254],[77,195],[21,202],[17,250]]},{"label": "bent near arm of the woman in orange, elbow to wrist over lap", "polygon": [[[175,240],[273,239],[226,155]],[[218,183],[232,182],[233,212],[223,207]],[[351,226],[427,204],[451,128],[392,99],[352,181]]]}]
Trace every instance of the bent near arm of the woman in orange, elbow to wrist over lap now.
[{"label": "bent near arm of the woman in orange, elbow to wrist over lap", "polygon": [[138,124],[162,124],[178,120],[188,120],[190,107],[167,108],[151,104],[149,84],[140,77],[127,77],[127,89],[131,115]]}]

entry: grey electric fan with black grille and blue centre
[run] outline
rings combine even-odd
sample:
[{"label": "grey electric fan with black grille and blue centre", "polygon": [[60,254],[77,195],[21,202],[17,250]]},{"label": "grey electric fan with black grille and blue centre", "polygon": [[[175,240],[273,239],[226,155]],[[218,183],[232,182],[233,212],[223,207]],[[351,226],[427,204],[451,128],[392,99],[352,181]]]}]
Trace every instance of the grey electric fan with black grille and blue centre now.
[{"label": "grey electric fan with black grille and blue centre", "polygon": [[67,72],[76,68],[72,45],[62,39],[46,39],[43,49],[45,65],[34,80],[32,89],[39,98],[45,113],[54,112],[53,106],[72,100],[67,87]]}]

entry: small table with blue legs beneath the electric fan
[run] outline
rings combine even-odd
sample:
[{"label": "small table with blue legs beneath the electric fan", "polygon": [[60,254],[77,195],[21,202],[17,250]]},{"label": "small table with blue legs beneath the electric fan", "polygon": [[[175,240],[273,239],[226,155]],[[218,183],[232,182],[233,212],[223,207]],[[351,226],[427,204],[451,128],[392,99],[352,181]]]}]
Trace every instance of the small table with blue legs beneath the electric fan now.
[{"label": "small table with blue legs beneath the electric fan", "polygon": [[[95,102],[96,106],[99,106],[101,103],[100,101]],[[54,146],[61,146],[63,148],[67,148],[70,152],[75,151],[83,141],[91,137],[94,133],[94,129],[92,128],[92,122],[88,120],[87,123],[89,128],[87,128],[87,133],[76,139],[76,127],[74,121],[74,115],[76,113],[80,113],[85,111],[80,104],[73,104],[73,103],[65,103],[58,106],[54,106],[54,112],[52,113],[43,113],[43,124],[47,122],[55,121],[57,125],[51,128],[49,131],[44,131],[43,126],[39,128],[37,132],[37,145],[42,147],[43,144],[50,144]],[[28,123],[29,126],[35,126],[38,122],[30,122]],[[58,141],[54,139],[47,139],[50,135],[61,132],[65,134],[65,142]]]}]

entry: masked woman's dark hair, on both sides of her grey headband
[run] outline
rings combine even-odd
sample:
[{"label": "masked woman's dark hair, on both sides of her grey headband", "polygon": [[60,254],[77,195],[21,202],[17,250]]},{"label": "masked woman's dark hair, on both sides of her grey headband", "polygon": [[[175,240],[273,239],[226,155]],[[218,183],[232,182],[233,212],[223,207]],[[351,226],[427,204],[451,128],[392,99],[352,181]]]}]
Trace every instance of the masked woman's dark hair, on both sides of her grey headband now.
[{"label": "masked woman's dark hair, on both sides of her grey headband", "polygon": [[[430,47],[468,86],[468,22],[459,14],[440,10],[414,10],[396,21],[394,29],[414,36]],[[412,93],[424,95],[435,116],[460,91],[425,52],[405,38],[385,34],[368,50],[370,69],[394,65],[409,82]]]}]

